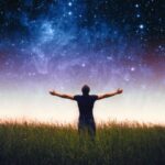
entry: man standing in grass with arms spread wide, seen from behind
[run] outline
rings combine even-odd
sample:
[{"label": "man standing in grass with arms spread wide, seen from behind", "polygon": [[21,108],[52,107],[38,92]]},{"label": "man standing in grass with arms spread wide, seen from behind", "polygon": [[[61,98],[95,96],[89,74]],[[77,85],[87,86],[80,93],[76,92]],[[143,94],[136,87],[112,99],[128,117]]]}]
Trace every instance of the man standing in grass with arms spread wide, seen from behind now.
[{"label": "man standing in grass with arms spread wide, seen from behind", "polygon": [[90,88],[89,86],[85,85],[82,86],[81,91],[82,95],[76,95],[76,96],[63,95],[54,90],[50,91],[50,94],[61,98],[76,100],[79,109],[78,132],[80,134],[81,132],[87,131],[91,138],[95,138],[96,124],[92,116],[95,101],[122,94],[123,90],[118,89],[114,92],[97,96],[97,95],[89,95]]}]

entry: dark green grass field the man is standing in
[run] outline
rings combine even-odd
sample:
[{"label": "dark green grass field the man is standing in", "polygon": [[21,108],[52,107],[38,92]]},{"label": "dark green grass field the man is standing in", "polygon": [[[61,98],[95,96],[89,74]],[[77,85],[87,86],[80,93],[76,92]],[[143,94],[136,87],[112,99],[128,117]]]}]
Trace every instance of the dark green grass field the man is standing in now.
[{"label": "dark green grass field the man is standing in", "polygon": [[109,122],[96,141],[72,127],[0,123],[0,165],[165,165],[165,128]]}]

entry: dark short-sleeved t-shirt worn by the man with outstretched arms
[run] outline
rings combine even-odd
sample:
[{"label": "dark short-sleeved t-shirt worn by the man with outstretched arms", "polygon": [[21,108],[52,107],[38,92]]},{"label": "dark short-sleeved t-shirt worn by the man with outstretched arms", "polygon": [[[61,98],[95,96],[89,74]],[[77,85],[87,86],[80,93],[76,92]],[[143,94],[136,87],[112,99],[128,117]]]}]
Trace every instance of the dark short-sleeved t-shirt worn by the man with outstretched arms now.
[{"label": "dark short-sleeved t-shirt worn by the man with outstretched arms", "polygon": [[92,116],[92,108],[95,101],[98,99],[97,95],[76,95],[74,96],[74,100],[77,101],[79,108],[79,119],[91,119]]}]

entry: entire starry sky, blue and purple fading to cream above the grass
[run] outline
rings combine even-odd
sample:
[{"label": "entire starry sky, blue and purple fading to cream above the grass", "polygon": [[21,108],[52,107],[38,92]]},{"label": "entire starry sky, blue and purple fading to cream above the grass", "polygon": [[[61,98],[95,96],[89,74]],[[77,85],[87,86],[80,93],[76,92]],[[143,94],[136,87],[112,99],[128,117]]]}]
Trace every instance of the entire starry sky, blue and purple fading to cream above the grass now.
[{"label": "entire starry sky, blue and purple fading to cream above the grass", "polygon": [[97,121],[165,121],[164,0],[0,0],[0,119],[76,122],[80,94],[124,90]]}]

